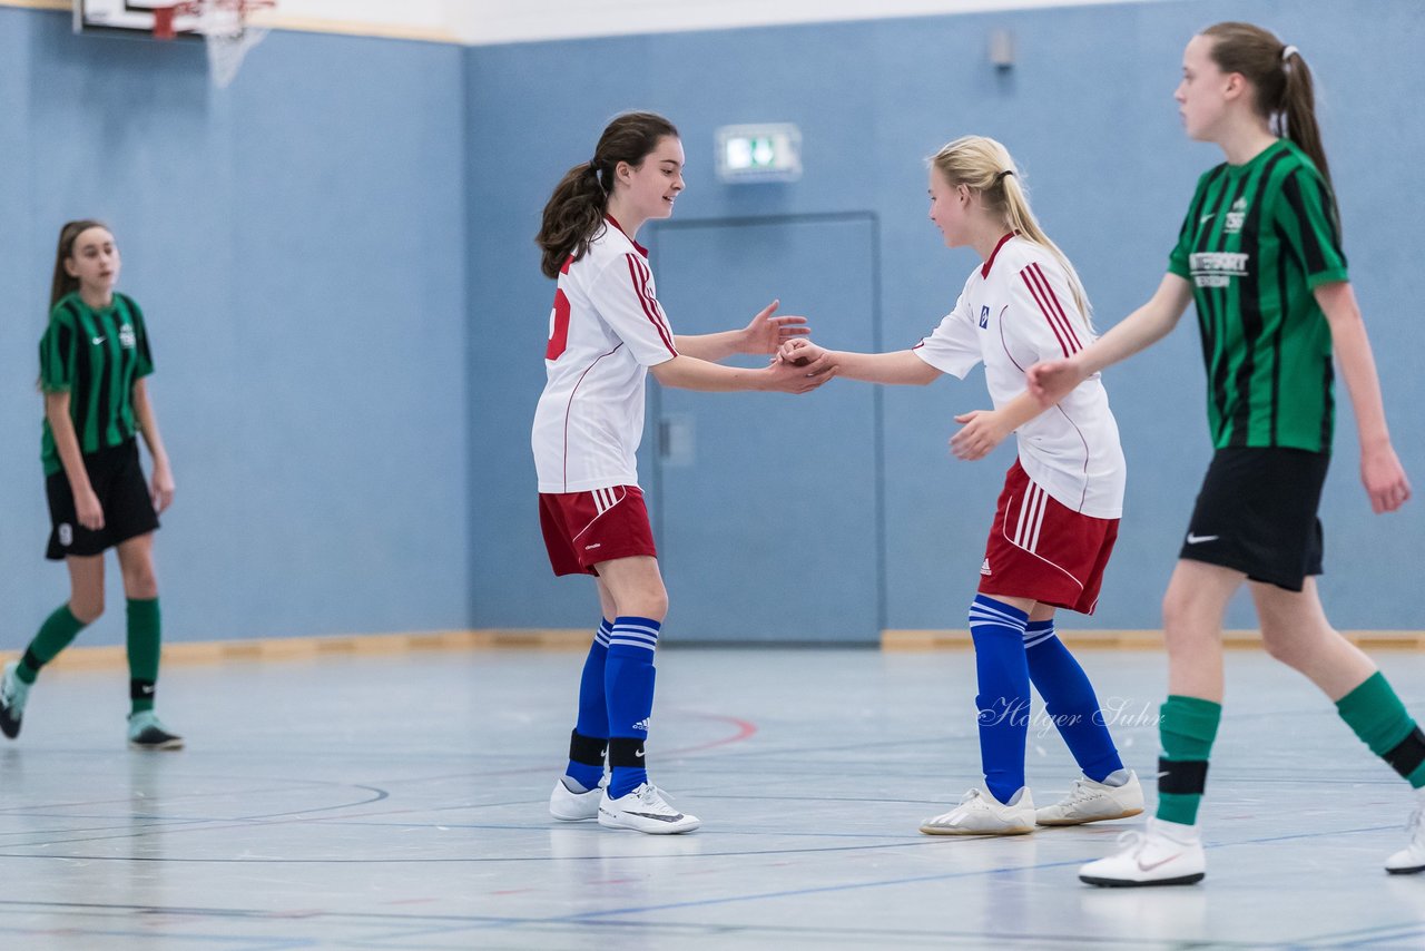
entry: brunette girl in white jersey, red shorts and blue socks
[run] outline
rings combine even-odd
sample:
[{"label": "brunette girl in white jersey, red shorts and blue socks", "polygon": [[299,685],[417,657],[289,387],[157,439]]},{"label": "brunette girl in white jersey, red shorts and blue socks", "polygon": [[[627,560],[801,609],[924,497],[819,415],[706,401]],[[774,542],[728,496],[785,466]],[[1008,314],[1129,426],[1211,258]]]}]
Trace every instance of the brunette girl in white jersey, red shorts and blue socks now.
[{"label": "brunette girl in white jersey, red shorts and blue socks", "polygon": [[[644,739],[653,713],[654,649],[668,609],[653,530],[638,489],[644,378],[704,391],[808,392],[834,361],[761,369],[720,366],[734,354],[775,354],[805,334],[799,317],[772,317],[777,301],[742,329],[674,335],[654,292],[647,251],[634,237],[673,214],[684,188],[683,143],[653,113],[614,118],[594,157],[574,165],[544,207],[536,241],[543,271],[559,281],[534,413],[540,525],[556,575],[593,575],[603,623],[584,662],[569,767],[554,783],[554,818],[598,818],[641,833],[685,833],[698,820],[673,808],[648,781]],[[604,754],[613,768],[607,788]]]}]

